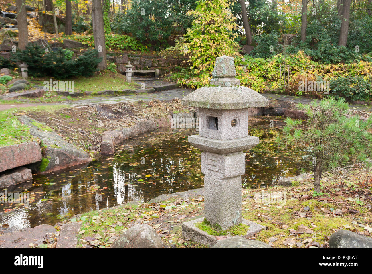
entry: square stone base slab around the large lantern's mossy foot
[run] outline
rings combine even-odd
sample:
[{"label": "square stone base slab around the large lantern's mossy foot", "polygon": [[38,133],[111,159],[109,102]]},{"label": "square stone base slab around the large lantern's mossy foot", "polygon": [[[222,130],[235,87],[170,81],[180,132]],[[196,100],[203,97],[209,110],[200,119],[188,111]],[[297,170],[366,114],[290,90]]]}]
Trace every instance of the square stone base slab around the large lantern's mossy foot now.
[{"label": "square stone base slab around the large lantern's mossy foot", "polygon": [[[204,220],[204,217],[197,218],[191,221],[187,221],[182,224],[182,237],[185,239],[190,238],[193,242],[201,243],[203,245],[207,245],[209,247],[214,246],[217,242],[220,240],[216,239],[216,236],[209,235],[203,230],[198,229],[198,227],[195,226],[196,223],[201,223]],[[253,223],[252,221],[248,221],[246,219],[241,219],[241,223],[246,224],[249,226],[249,230],[246,235],[244,235],[244,238],[253,237],[254,234],[260,232],[265,227]]]}]

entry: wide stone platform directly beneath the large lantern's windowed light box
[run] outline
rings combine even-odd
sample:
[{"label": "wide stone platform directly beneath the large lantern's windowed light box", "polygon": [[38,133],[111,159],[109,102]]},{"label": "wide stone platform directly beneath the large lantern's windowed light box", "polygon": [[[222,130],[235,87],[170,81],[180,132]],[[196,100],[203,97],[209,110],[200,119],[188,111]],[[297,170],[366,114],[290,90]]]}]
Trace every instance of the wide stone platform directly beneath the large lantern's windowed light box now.
[{"label": "wide stone platform directly beneath the large lantern's windowed light box", "polygon": [[247,151],[259,143],[259,138],[247,136],[244,138],[231,140],[215,140],[201,137],[199,135],[190,135],[188,138],[190,144],[203,151],[209,151],[219,154]]}]

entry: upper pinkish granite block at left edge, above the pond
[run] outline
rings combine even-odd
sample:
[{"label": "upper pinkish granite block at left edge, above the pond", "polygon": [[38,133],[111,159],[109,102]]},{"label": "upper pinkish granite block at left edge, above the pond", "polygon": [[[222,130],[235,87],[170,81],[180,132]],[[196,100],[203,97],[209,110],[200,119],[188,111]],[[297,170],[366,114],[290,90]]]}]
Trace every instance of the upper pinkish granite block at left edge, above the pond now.
[{"label": "upper pinkish granite block at left edge, above the pond", "polygon": [[41,149],[36,142],[0,147],[0,172],[41,161]]}]

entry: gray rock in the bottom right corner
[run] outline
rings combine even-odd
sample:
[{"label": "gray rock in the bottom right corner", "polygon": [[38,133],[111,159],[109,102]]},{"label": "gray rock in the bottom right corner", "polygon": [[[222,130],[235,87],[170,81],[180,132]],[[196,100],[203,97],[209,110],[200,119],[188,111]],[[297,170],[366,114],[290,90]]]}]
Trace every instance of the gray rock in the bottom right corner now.
[{"label": "gray rock in the bottom right corner", "polygon": [[349,230],[339,230],[329,238],[329,248],[372,248],[372,238]]}]

